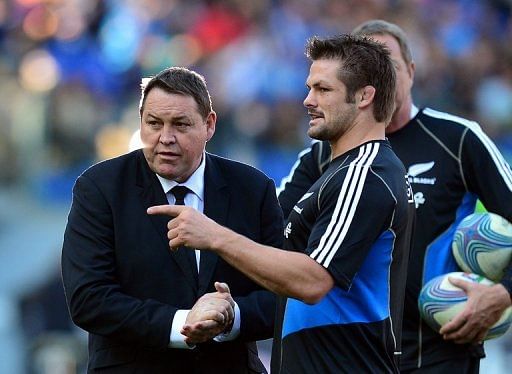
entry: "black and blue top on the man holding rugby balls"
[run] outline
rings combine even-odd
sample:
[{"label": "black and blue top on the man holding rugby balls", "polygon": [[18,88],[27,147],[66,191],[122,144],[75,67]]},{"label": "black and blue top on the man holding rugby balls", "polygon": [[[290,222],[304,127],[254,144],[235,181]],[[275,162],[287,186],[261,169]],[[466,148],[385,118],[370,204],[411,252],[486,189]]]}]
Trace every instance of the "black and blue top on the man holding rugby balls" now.
[{"label": "black and blue top on the man holding rugby balls", "polygon": [[[473,213],[477,198],[489,211],[512,221],[512,204],[506,203],[512,200],[510,166],[476,122],[429,108],[387,136],[407,167],[416,202],[400,366],[412,369],[455,357],[481,356],[482,347],[444,341],[422,323],[417,300],[425,282],[459,270],[451,241],[460,221]],[[279,201],[285,217],[320,178],[329,159],[326,142],[315,142],[300,154],[281,184]],[[512,291],[512,264],[501,283]]]}]

